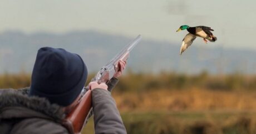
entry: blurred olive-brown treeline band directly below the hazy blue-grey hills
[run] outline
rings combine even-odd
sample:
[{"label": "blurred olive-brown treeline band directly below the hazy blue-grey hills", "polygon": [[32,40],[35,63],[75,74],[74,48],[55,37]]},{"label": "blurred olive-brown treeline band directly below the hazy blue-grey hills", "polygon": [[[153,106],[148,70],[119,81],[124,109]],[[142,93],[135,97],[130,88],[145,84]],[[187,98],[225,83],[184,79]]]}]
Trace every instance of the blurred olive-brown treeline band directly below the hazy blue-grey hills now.
[{"label": "blurred olive-brown treeline band directly below the hazy blue-grey hills", "polygon": [[[88,81],[94,76],[90,74]],[[18,89],[29,86],[31,74],[2,74],[0,88]],[[209,90],[252,90],[256,89],[256,75],[248,76],[239,73],[229,75],[209,75],[206,71],[196,75],[178,73],[145,74],[128,71],[121,76],[115,91],[148,91],[154,89],[209,89]]]}]

